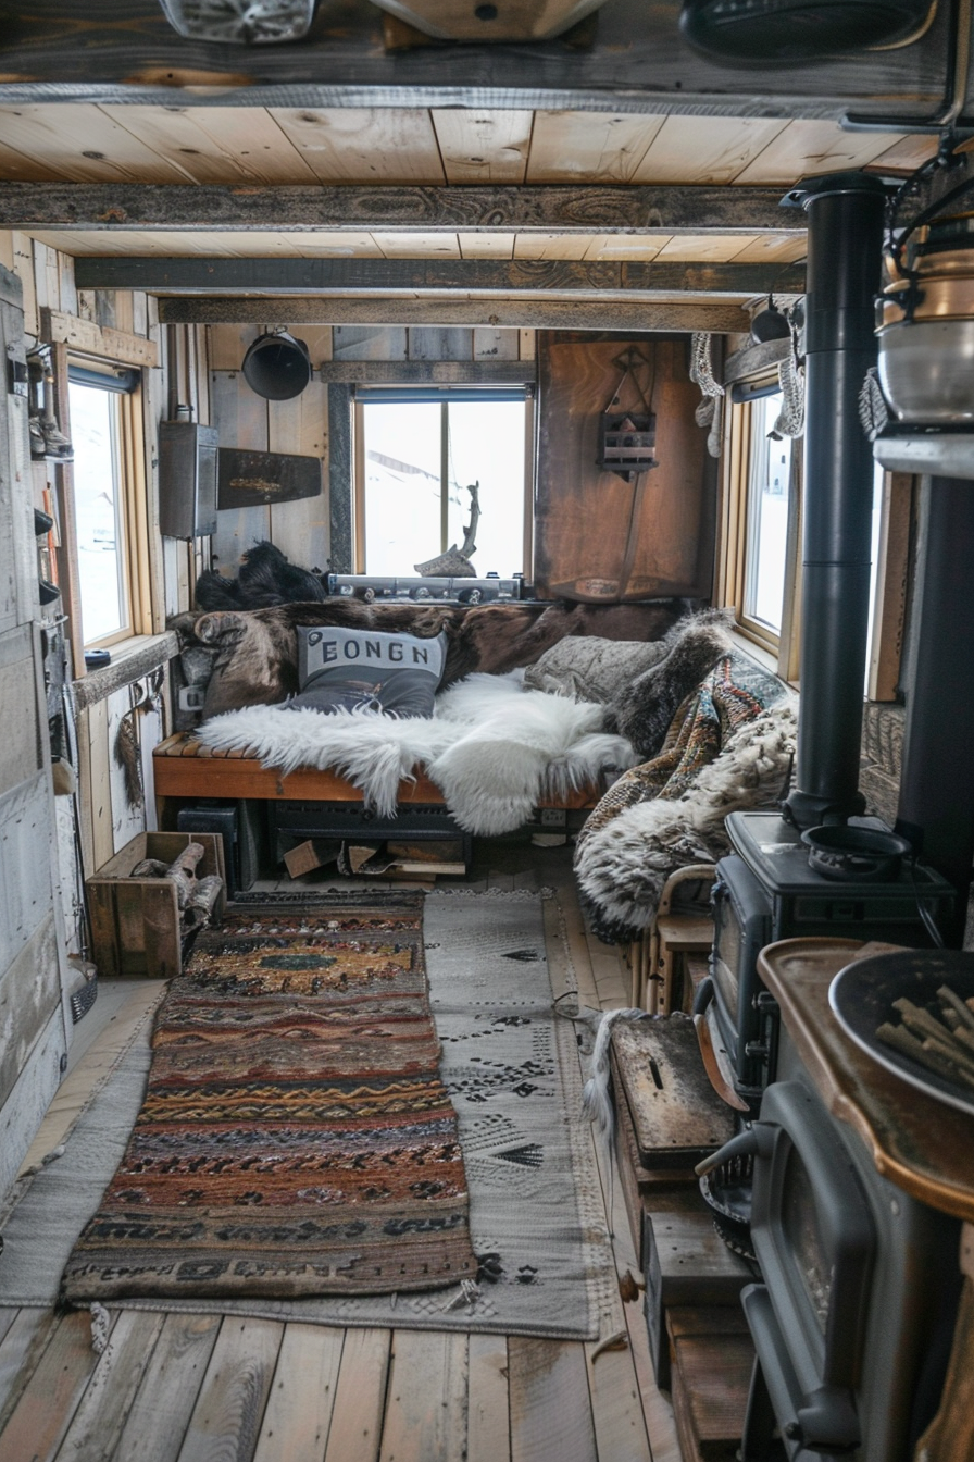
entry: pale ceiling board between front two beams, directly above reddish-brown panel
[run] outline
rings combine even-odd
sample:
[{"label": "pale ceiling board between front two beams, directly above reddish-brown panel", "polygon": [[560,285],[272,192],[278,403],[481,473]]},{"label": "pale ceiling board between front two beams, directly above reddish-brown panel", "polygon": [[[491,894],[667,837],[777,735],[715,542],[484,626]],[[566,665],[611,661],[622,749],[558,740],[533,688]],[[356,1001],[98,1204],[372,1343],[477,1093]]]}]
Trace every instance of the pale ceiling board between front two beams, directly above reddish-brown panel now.
[{"label": "pale ceiling board between front two beams, directly above reddish-brown panel", "polygon": [[529,183],[632,183],[663,117],[539,111]]}]

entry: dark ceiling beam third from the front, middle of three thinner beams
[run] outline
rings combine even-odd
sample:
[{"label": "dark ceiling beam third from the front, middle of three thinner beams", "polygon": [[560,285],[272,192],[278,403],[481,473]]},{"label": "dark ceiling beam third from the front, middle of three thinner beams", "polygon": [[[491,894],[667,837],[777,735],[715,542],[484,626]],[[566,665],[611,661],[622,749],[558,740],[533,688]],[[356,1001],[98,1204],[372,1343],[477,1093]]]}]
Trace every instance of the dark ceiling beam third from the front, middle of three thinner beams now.
[{"label": "dark ceiling beam third from the front, middle of three thinner beams", "polygon": [[562,259],[77,257],[79,289],[149,294],[800,294],[803,265],[574,263]]}]

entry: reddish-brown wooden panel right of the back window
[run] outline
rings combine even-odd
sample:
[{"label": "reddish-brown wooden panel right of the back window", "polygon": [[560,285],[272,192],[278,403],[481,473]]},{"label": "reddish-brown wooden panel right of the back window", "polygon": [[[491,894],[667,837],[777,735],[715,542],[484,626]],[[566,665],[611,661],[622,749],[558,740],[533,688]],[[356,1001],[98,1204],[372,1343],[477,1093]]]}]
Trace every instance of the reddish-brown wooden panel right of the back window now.
[{"label": "reddish-brown wooden panel right of the back window", "polygon": [[[641,357],[621,383],[618,364]],[[689,336],[539,336],[539,463],[534,580],[548,598],[612,602],[663,595],[708,598],[717,472],[694,411]],[[659,466],[625,481],[597,465],[600,418],[656,414]],[[618,408],[613,408],[618,409]]]}]

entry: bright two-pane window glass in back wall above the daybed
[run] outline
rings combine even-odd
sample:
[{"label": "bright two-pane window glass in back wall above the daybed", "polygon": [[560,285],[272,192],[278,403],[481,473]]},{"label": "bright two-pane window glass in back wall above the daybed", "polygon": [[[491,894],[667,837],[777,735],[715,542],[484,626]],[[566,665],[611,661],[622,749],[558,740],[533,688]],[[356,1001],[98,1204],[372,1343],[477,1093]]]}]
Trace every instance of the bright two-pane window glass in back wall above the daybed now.
[{"label": "bright two-pane window glass in back wall above the daybed", "polygon": [[470,550],[478,577],[521,573],[530,404],[523,387],[356,393],[356,570],[387,577],[463,547],[476,485]]}]

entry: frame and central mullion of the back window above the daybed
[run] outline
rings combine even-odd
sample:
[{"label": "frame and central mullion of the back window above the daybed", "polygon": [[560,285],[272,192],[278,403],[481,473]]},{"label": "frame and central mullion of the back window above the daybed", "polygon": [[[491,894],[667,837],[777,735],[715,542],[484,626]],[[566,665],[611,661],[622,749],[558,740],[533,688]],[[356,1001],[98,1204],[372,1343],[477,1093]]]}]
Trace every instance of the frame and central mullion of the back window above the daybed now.
[{"label": "frame and central mullion of the back window above the daybed", "polygon": [[[365,554],[367,554],[367,537],[365,537],[365,406],[369,402],[381,402],[383,399],[391,401],[393,393],[396,398],[415,398],[416,404],[438,402],[441,405],[441,456],[440,456],[440,538],[441,538],[441,553],[450,547],[448,542],[448,501],[447,494],[442,493],[445,462],[447,462],[447,440],[448,440],[448,406],[450,402],[463,402],[470,399],[491,401],[492,396],[501,399],[501,393],[510,393],[517,390],[518,399],[523,399],[524,405],[524,506],[523,506],[523,544],[521,544],[521,573],[526,580],[533,577],[533,545],[534,545],[534,390],[530,383],[524,383],[523,387],[514,387],[511,382],[482,382],[476,386],[457,386],[457,387],[442,387],[437,390],[431,386],[403,386],[390,382],[387,387],[365,387],[352,389],[352,560],[355,564],[355,573],[365,575]],[[521,398],[523,390],[523,398]],[[386,395],[386,393],[390,395]],[[412,575],[402,575],[402,577],[412,577]]]}]

